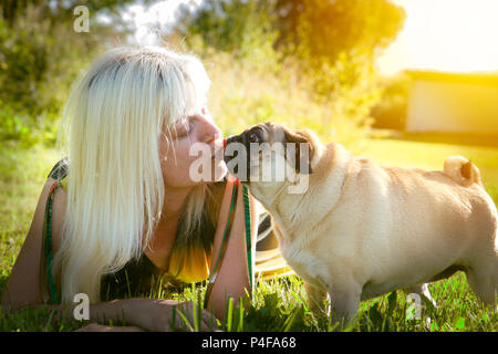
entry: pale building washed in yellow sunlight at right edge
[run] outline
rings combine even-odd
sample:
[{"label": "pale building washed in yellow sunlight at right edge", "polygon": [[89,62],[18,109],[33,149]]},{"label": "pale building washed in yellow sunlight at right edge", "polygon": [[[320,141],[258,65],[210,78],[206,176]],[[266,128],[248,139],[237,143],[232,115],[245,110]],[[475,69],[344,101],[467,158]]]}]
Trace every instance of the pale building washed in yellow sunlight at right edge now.
[{"label": "pale building washed in yellow sunlight at right edge", "polygon": [[498,74],[408,74],[406,132],[498,133]]}]

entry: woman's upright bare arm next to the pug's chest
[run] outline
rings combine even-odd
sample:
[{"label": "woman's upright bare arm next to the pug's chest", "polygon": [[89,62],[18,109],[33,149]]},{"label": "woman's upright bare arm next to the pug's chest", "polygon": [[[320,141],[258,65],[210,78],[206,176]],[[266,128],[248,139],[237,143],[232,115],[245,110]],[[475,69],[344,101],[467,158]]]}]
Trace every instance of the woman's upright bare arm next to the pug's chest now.
[{"label": "woman's upright bare arm next to the pug's chest", "polygon": [[[231,177],[231,176],[230,176]],[[227,223],[228,212],[235,180],[228,178],[221,201],[217,229],[215,233],[215,242],[211,258],[211,273],[218,259],[221,241],[224,237],[225,226]],[[252,197],[249,195],[250,215],[251,215],[251,249],[252,254],[256,253],[256,237],[258,233],[258,214]],[[255,257],[252,257],[252,269],[255,269]],[[219,269],[216,281],[212,285],[211,294],[208,302],[208,310],[214,311],[216,317],[222,320],[225,317],[226,301],[234,298],[235,304],[238,304],[239,296],[246,294],[246,289],[250,291],[249,269],[246,249],[246,223],[243,209],[243,190],[239,183],[237,205],[235,209],[234,222],[228,238],[227,250]]]}]

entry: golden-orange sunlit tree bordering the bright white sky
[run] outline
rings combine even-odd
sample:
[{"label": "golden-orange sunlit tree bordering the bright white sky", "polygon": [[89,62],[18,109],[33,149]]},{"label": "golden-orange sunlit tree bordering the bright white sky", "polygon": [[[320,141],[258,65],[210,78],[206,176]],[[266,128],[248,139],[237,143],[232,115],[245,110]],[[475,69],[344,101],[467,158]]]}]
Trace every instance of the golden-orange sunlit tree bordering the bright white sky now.
[{"label": "golden-orange sunlit tree bordering the bright white sky", "polygon": [[397,37],[406,13],[388,0],[278,0],[277,46],[301,63],[328,118],[369,125],[381,96],[376,56]]}]

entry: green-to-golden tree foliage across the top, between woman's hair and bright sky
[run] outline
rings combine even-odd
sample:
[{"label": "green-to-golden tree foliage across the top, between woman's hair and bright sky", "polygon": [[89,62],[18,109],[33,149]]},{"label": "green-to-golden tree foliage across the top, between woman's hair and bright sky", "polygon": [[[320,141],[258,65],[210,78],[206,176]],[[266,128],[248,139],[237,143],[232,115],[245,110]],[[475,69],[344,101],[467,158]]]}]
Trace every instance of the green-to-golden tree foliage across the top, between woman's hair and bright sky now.
[{"label": "green-to-golden tree foliage across the top, between woman's hair and bright sky", "polygon": [[403,8],[388,0],[208,0],[184,17],[181,33],[187,42],[201,37],[204,49],[236,53],[241,66],[274,58],[282,86],[305,87],[307,97],[323,107],[320,122],[308,126],[353,131],[372,123],[382,91],[374,61],[404,19]]}]

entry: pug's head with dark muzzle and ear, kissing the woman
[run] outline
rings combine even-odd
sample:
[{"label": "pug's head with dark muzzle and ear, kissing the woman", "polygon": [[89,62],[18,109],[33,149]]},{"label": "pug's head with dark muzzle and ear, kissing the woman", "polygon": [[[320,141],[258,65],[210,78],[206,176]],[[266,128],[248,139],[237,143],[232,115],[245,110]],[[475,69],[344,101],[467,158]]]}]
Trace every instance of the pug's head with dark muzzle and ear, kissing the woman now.
[{"label": "pug's head with dark muzzle and ear, kissing the woman", "polygon": [[228,170],[251,187],[268,190],[295,184],[312,173],[320,142],[309,131],[294,131],[272,122],[253,125],[227,138]]}]

